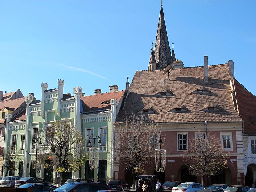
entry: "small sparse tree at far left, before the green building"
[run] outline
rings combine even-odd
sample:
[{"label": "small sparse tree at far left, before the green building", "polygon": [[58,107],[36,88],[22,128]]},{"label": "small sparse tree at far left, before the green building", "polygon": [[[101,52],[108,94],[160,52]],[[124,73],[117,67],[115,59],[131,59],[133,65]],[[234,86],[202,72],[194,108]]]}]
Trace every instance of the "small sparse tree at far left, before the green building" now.
[{"label": "small sparse tree at far left, before the green building", "polygon": [[13,153],[9,146],[6,150],[6,154],[4,154],[4,168],[6,169],[5,176],[8,175],[9,171],[17,170],[15,162],[19,161],[20,159],[20,156]]}]

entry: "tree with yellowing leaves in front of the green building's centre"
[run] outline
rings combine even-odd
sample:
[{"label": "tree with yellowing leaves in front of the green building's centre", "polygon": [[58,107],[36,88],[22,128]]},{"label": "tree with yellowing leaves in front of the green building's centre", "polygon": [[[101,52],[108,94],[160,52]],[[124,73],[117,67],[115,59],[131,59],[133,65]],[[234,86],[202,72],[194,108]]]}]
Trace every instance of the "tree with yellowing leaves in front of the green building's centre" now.
[{"label": "tree with yellowing leaves in front of the green building's centre", "polygon": [[81,133],[69,122],[55,121],[54,126],[47,127],[46,134],[41,136],[45,140],[46,150],[55,156],[45,168],[53,168],[60,172],[61,185],[64,184],[65,172],[76,172],[84,165],[86,156],[81,156],[84,139]]}]

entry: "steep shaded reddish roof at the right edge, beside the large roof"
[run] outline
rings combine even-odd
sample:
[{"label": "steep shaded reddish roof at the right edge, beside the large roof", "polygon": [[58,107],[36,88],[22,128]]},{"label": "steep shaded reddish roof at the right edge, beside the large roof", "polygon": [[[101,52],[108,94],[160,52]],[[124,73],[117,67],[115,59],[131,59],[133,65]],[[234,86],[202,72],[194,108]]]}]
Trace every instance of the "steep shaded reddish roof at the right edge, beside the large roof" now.
[{"label": "steep shaded reddish roof at the right edge, beside the large roof", "polygon": [[239,114],[244,121],[244,134],[256,134],[256,97],[232,78]]}]

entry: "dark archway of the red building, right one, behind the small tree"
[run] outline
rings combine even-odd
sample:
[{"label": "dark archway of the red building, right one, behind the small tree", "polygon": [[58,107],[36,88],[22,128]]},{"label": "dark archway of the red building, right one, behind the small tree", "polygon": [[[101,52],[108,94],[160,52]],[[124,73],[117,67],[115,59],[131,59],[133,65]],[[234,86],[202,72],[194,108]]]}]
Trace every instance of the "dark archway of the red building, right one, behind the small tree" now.
[{"label": "dark archway of the red building, right one, behind the small tree", "polygon": [[212,184],[227,184],[231,185],[231,171],[228,167],[221,170],[219,174],[211,176],[211,185]]}]

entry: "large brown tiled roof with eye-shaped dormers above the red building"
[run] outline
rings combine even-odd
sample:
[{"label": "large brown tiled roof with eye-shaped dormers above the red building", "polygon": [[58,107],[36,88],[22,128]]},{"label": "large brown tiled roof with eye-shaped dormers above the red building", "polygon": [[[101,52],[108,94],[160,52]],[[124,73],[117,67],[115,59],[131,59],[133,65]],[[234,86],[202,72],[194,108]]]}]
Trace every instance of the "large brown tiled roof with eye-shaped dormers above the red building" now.
[{"label": "large brown tiled roof with eye-shaped dormers above the red building", "polygon": [[[230,94],[228,65],[208,68],[209,82],[204,82],[204,67],[171,69],[170,81],[167,74],[163,75],[163,70],[136,71],[117,122],[124,121],[124,114],[150,108],[155,109],[156,113],[145,114],[155,122],[241,121]],[[206,88],[209,93],[191,93],[198,87]],[[154,96],[162,90],[170,90],[173,95]],[[185,106],[188,112],[168,112],[177,106]],[[219,110],[202,111],[205,106],[218,106]]]}]

